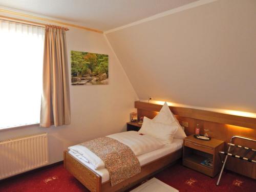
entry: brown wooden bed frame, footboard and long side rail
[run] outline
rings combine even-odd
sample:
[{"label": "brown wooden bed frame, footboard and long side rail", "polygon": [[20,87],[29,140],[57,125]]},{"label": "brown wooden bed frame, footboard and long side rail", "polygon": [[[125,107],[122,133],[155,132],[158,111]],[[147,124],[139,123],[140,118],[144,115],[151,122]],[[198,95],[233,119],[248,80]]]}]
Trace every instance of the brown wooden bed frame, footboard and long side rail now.
[{"label": "brown wooden bed frame, footboard and long side rail", "polygon": [[101,182],[101,176],[91,168],[81,164],[77,159],[72,157],[67,151],[64,152],[64,167],[84,186],[93,192],[124,191],[144,179],[160,172],[163,168],[173,164],[181,158],[182,148],[170,153],[141,167],[141,172],[125,181],[111,186],[110,180]]}]

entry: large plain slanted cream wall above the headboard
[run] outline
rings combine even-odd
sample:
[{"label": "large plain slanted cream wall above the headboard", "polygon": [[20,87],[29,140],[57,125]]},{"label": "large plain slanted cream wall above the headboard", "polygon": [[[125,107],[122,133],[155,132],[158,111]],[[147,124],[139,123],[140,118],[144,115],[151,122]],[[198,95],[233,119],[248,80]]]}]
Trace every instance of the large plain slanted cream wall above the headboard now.
[{"label": "large plain slanted cream wall above the headboard", "polygon": [[107,33],[140,99],[256,112],[256,1],[216,1]]}]

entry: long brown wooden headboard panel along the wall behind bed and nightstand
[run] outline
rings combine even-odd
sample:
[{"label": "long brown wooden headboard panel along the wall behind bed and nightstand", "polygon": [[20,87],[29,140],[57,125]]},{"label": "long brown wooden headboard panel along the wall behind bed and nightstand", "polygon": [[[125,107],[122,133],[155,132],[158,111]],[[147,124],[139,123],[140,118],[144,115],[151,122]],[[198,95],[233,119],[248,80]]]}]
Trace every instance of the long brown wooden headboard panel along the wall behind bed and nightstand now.
[{"label": "long brown wooden headboard panel along the wall behind bed and nightstand", "polygon": [[[161,110],[162,105],[135,101],[135,108],[137,109],[138,118],[146,116],[152,119]],[[169,108],[180,122],[188,123],[188,126],[185,127],[186,135],[194,134],[196,125],[200,124],[201,128],[209,130],[209,135],[212,138],[223,140],[226,143],[228,143],[230,138],[234,135],[256,139],[255,118],[221,114],[198,109],[181,108],[177,106],[169,106]],[[203,129],[201,129],[201,134],[203,134]],[[255,148],[251,142],[239,139],[237,139],[236,142]],[[241,162],[239,159],[229,158],[229,162],[226,167],[234,172],[256,179],[255,164],[252,165],[249,162]]]}]

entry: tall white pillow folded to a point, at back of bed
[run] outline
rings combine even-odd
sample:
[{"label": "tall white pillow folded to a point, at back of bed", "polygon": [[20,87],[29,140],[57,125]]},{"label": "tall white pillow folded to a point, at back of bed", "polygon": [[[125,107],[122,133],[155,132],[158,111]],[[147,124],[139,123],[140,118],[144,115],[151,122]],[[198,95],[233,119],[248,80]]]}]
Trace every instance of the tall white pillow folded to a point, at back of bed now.
[{"label": "tall white pillow folded to a point, at back of bed", "polygon": [[171,126],[178,126],[178,130],[174,135],[176,139],[184,139],[186,137],[185,132],[183,131],[179,121],[176,119],[174,114],[170,111],[167,102],[164,103],[162,109],[159,114],[153,119],[154,122],[159,122],[163,124],[169,124]]}]

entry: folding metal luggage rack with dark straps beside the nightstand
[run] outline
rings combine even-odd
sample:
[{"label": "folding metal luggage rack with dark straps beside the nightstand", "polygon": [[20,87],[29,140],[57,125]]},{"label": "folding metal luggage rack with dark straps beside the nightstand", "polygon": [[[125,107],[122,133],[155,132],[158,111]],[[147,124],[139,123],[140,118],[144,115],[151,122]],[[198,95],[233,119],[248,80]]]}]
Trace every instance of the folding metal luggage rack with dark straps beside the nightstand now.
[{"label": "folding metal luggage rack with dark straps beside the nightstand", "polygon": [[[249,141],[252,141],[252,142],[256,142],[256,140],[249,139],[249,138],[246,138],[246,137],[240,137],[240,136],[231,137],[230,143],[228,143],[228,145],[229,145],[228,151],[227,152],[219,152],[219,154],[224,154],[224,155],[226,155],[226,157],[225,157],[223,166],[221,168],[221,173],[220,173],[220,176],[219,176],[219,179],[218,179],[216,185],[219,185],[219,183],[220,183],[221,176],[222,176],[222,173],[223,173],[223,169],[225,167],[228,156],[231,156],[231,157],[234,157],[234,158],[239,158],[241,160],[245,160],[245,161],[248,161],[250,163],[256,163],[256,160],[254,159],[254,157],[256,156],[256,150],[253,149],[253,148],[246,147],[246,146],[233,144],[232,141],[233,141],[234,138],[240,138],[240,139],[245,139],[245,140],[249,140]],[[237,148],[239,148],[238,151],[236,151]],[[242,154],[242,155],[239,155],[239,154]]]}]

